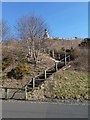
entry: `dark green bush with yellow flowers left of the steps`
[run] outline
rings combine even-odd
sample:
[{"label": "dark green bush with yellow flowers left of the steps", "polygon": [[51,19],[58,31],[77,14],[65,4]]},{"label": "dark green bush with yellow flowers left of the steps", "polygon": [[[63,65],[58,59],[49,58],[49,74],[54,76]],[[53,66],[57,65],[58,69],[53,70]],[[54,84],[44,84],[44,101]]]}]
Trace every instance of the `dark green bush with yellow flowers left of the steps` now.
[{"label": "dark green bush with yellow flowers left of the steps", "polygon": [[7,73],[8,78],[22,79],[28,73],[29,67],[24,64],[18,64],[10,72]]}]

